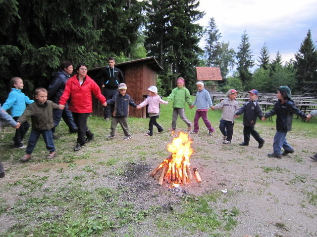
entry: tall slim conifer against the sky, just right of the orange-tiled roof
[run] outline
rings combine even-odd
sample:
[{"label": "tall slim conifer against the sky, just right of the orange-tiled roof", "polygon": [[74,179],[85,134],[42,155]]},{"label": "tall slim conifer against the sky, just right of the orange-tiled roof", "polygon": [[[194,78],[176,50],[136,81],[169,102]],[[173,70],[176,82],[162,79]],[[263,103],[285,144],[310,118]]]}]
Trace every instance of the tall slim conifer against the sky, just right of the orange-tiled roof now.
[{"label": "tall slim conifer against the sky, just right of the orange-tiled roof", "polygon": [[252,52],[250,49],[249,37],[246,31],[241,36],[241,43],[238,46],[238,52],[236,58],[238,60],[237,71],[239,72],[239,77],[241,81],[246,84],[251,78],[252,74],[249,69],[253,67],[254,61],[252,60]]}]

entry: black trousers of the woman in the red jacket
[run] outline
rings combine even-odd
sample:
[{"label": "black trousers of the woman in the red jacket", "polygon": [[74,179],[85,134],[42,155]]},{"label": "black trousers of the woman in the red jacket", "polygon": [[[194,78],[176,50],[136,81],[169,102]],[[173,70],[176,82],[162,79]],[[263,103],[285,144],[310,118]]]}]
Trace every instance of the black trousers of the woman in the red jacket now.
[{"label": "black trousers of the woman in the red jacket", "polygon": [[84,145],[86,140],[85,136],[87,138],[91,138],[94,136],[94,134],[87,127],[87,119],[88,119],[89,113],[72,112],[72,115],[78,127],[77,143],[79,143],[80,145]]}]

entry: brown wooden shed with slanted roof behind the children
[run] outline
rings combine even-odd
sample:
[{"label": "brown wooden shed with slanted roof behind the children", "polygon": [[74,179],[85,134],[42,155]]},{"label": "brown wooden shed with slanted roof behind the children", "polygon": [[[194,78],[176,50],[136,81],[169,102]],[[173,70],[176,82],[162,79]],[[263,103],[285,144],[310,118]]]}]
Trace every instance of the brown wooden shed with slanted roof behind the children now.
[{"label": "brown wooden shed with slanted roof behind the children", "polygon": [[[107,67],[107,66],[105,66]],[[105,67],[94,68],[88,71],[88,75],[99,83],[97,75]],[[148,88],[151,85],[157,85],[158,72],[163,70],[155,57],[147,57],[136,59],[124,63],[115,64],[116,68],[120,69],[124,76],[124,81],[128,87],[127,94],[130,95],[136,104],[140,104],[145,95],[148,94]],[[137,110],[130,106],[129,116],[135,118],[146,118],[146,107]],[[93,114],[104,116],[103,106],[100,101],[94,99]]]}]

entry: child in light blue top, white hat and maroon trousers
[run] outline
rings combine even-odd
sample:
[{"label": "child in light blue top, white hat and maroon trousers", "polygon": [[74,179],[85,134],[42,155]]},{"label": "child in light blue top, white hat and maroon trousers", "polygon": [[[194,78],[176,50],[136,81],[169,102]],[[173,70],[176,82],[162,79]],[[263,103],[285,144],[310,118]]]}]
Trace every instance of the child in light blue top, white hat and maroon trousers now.
[{"label": "child in light blue top, white hat and maroon trousers", "polygon": [[210,121],[208,120],[208,110],[212,106],[212,101],[209,92],[205,89],[205,85],[203,81],[198,81],[196,83],[197,93],[194,103],[190,106],[190,108],[194,108],[196,105],[197,110],[194,118],[194,130],[191,134],[198,133],[199,131],[199,118],[202,117],[203,121],[208,128],[208,135],[211,135],[214,132],[214,128],[211,126]]}]

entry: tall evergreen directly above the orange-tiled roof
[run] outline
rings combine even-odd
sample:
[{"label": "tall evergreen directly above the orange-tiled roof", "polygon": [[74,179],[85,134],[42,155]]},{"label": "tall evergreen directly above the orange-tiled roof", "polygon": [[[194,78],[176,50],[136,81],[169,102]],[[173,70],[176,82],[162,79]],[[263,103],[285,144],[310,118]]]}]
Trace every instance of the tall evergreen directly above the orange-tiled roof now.
[{"label": "tall evergreen directly above the orange-tiled roof", "polygon": [[210,18],[205,37],[205,57],[207,67],[219,67],[219,55],[221,53],[221,43],[219,42],[219,39],[221,38],[221,33],[219,33],[213,17]]}]

